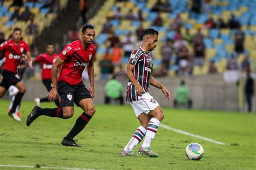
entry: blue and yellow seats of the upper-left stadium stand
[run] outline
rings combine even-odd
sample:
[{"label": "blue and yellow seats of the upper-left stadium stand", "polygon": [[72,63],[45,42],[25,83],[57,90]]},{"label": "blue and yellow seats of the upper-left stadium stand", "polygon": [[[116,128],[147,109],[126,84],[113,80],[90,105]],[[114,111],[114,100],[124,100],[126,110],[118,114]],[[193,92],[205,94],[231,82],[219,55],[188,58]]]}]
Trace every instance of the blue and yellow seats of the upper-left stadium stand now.
[{"label": "blue and yellow seats of the upper-left stadium stand", "polygon": [[[12,6],[11,0],[3,1],[3,4],[0,5],[0,30],[4,32],[5,39],[9,39],[12,30],[15,27],[19,27],[24,32],[23,40],[27,41],[29,45],[35,43],[36,38],[40,37],[44,30],[49,29],[51,24],[55,21],[58,16],[58,12],[62,11],[68,5],[68,0],[62,1],[53,1],[49,6],[45,6],[46,1],[40,0],[35,2],[27,2],[23,1],[23,6]],[[25,10],[25,6],[28,6],[31,17],[33,18],[34,24],[38,26],[38,30],[36,33],[29,35],[26,31],[30,24],[30,20],[20,20],[13,19],[11,20],[11,16],[14,13],[15,9],[18,9],[19,16]],[[45,6],[45,8],[44,8]]]}]

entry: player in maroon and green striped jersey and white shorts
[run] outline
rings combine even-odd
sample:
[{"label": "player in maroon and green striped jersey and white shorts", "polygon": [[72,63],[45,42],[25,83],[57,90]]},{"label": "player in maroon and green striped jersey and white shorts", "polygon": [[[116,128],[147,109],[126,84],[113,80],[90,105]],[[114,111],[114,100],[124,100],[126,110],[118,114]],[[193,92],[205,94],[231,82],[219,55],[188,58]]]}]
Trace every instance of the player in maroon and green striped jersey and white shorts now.
[{"label": "player in maroon and green striped jersey and white shorts", "polygon": [[129,143],[120,153],[121,155],[136,155],[132,149],[145,136],[138,152],[149,157],[158,157],[158,154],[151,150],[150,144],[164,118],[164,114],[158,102],[148,93],[148,90],[150,84],[161,89],[167,100],[170,100],[170,93],[151,75],[153,63],[149,52],[156,48],[157,41],[158,31],[146,29],[143,32],[142,46],[133,51],[126,67],[126,75],[129,78],[126,101],[132,105],[141,125],[133,133]]}]

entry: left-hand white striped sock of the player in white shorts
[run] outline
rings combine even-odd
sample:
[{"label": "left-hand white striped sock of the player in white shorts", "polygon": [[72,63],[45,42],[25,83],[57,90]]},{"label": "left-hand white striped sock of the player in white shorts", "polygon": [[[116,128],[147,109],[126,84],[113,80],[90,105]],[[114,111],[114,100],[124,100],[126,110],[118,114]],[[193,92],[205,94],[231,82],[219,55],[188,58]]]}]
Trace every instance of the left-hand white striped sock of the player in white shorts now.
[{"label": "left-hand white striped sock of the player in white shorts", "polygon": [[125,151],[131,151],[134,146],[137,146],[140,141],[142,141],[143,137],[146,134],[146,129],[143,126],[139,126],[139,128],[133,133],[132,138],[129,143],[124,147]]}]

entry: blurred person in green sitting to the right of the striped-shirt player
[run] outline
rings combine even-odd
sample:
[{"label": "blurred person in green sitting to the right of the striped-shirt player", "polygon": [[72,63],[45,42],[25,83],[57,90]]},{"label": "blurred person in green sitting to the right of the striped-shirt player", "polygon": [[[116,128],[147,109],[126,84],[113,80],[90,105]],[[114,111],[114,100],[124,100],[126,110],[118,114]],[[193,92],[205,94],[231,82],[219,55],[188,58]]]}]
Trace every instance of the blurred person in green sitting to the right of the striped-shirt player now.
[{"label": "blurred person in green sitting to the right of the striped-shirt player", "polygon": [[185,81],[181,80],[180,86],[175,91],[174,108],[178,105],[187,105],[187,108],[192,108],[192,100],[190,99],[190,90],[185,86]]}]

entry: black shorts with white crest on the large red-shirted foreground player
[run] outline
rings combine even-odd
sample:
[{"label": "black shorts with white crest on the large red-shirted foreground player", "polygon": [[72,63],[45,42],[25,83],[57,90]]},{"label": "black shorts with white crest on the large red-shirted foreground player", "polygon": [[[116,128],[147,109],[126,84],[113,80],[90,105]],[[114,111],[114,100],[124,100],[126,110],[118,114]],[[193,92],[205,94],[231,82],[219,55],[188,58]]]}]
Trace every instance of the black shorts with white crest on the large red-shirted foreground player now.
[{"label": "black shorts with white crest on the large red-shirted foreground player", "polygon": [[58,93],[62,107],[73,107],[74,102],[79,107],[79,102],[84,98],[92,98],[90,91],[85,87],[83,81],[71,85],[65,81],[58,82]]}]

